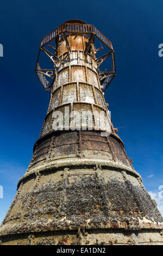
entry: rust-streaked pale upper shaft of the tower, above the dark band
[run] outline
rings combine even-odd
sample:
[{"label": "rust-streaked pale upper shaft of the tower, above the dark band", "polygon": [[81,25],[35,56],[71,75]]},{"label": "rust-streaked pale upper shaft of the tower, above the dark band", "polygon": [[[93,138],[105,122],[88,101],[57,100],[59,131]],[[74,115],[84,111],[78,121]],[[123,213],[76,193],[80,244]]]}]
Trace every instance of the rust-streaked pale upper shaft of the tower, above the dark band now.
[{"label": "rust-streaked pale upper shaft of the tower, above the dark band", "polygon": [[[55,42],[57,45],[55,50],[57,60],[54,64],[55,75],[51,86],[51,100],[47,117],[40,136],[52,132],[53,114],[55,111],[60,111],[65,115],[65,107],[69,108],[69,111],[73,110],[80,113],[85,110],[92,113],[91,127],[96,129],[99,113],[103,111],[105,117],[108,115],[108,108],[102,92],[101,77],[98,74],[98,62],[99,60],[103,61],[103,58],[96,59],[93,39],[90,39],[87,34],[71,33],[64,36],[60,34],[55,38]],[[47,71],[46,74],[44,71],[44,74],[49,75],[49,72]],[[39,73],[39,76],[42,76],[42,73]],[[103,81],[107,77],[108,74],[103,77]],[[110,123],[109,116],[106,119]],[[70,123],[71,120],[68,121],[66,127],[71,126]],[[100,128],[103,130],[103,127]]]}]

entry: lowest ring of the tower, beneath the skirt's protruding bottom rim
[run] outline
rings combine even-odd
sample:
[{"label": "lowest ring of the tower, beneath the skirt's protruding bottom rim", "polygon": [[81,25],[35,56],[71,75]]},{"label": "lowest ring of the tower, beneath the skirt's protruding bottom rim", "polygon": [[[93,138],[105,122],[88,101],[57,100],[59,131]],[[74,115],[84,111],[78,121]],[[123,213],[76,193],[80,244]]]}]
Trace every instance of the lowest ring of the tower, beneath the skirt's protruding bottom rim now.
[{"label": "lowest ring of the tower, beneath the skirt's protruding bottom rim", "polygon": [[2,237],[1,245],[163,245],[159,230],[62,230]]}]

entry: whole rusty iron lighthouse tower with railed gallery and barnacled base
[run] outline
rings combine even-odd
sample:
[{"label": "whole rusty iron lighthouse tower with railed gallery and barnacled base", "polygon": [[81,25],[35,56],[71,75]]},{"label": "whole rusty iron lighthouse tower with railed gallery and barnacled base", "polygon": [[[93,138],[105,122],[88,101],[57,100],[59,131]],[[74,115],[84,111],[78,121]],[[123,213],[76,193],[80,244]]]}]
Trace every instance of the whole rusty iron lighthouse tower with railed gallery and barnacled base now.
[{"label": "whole rusty iron lighthouse tower with railed gallery and barnacled base", "polygon": [[[97,57],[104,48],[108,52]],[[41,54],[50,59],[46,69]],[[106,58],[110,70],[101,72]],[[35,71],[51,98],[32,160],[1,225],[1,244],[163,244],[162,217],[105,103],[104,90],[116,74],[111,42],[92,25],[66,21],[41,41]],[[92,124],[87,119],[85,129],[78,129],[72,111],[90,111]],[[110,122],[109,136],[102,136],[99,112]],[[61,121],[55,113],[64,117],[62,129],[53,129]]]}]

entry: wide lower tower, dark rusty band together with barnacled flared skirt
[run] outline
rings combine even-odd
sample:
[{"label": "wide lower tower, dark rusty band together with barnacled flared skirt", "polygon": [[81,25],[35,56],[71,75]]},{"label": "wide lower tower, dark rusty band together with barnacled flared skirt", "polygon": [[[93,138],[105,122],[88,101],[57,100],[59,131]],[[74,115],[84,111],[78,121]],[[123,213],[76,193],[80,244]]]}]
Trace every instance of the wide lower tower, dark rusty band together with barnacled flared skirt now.
[{"label": "wide lower tower, dark rusty band together with barnacled flared skirt", "polygon": [[117,135],[51,133],[34,150],[2,245],[163,245],[162,217]]}]

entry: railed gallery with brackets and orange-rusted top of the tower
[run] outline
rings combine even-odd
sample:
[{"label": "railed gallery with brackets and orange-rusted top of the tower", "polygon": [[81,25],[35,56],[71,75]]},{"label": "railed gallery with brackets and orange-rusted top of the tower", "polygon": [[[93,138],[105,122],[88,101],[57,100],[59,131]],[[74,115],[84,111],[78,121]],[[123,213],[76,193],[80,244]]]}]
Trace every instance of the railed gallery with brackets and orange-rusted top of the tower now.
[{"label": "railed gallery with brackets and orange-rusted top of the tower", "polygon": [[[95,48],[95,45],[93,44],[95,37],[109,49],[108,53],[105,53],[98,58],[96,58],[96,53],[97,51],[102,50],[103,47],[98,49]],[[55,46],[48,45],[49,42],[52,43],[54,41]],[[53,49],[53,52],[45,48],[47,45]],[[47,54],[54,64],[54,71],[41,69],[39,58],[42,51]],[[111,58],[112,62],[109,72],[99,72],[99,66],[108,57]],[[71,60],[71,64],[68,60]],[[35,71],[45,90],[51,92],[53,83],[56,80],[56,74],[61,66],[66,66],[66,64],[69,66],[73,64],[85,66],[85,60],[87,60],[87,63],[90,64],[92,69],[93,66],[97,69],[99,72],[99,79],[101,80],[101,87],[105,90],[116,75],[114,50],[111,42],[92,25],[88,25],[80,20],[67,21],[42,39]],[[80,74],[82,75],[81,77],[83,77],[82,70],[80,70]],[[52,81],[49,82],[46,76],[51,77]],[[67,75],[66,77],[68,78]],[[62,76],[62,78],[64,79],[64,76]]]}]

